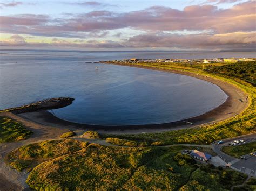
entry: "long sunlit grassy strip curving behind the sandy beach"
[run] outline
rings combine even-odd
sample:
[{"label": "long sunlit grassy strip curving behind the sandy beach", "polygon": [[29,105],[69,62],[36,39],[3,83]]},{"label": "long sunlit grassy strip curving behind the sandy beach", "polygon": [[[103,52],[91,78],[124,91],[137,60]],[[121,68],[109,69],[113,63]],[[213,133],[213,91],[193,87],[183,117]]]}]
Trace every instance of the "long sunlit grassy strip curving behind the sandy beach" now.
[{"label": "long sunlit grassy strip curving behind the sandy beach", "polygon": [[[256,62],[253,63],[255,66]],[[102,135],[103,138],[119,139],[109,139],[111,143],[116,142],[114,144],[117,145],[124,145],[124,142],[130,142],[133,145],[147,143],[152,146],[179,143],[210,144],[214,140],[236,137],[240,135],[245,135],[247,133],[256,132],[256,90],[252,86],[252,84],[247,83],[244,80],[241,80],[239,76],[227,76],[225,75],[225,72],[221,74],[207,72],[205,70],[201,70],[200,67],[194,67],[194,65],[187,66],[181,63],[136,63],[134,65],[142,67],[152,67],[157,69],[180,70],[183,72],[191,72],[199,75],[213,77],[215,79],[231,83],[235,87],[240,88],[249,95],[248,100],[250,101],[250,105],[244,112],[231,119],[227,119],[223,122],[219,122],[213,125],[204,125],[199,128],[169,131],[163,133],[143,133],[139,135]],[[227,63],[225,63],[225,65],[227,65]],[[226,68],[232,69],[232,66],[234,64],[229,63],[229,65],[230,66]],[[218,66],[216,67],[221,66],[223,66],[223,64],[218,63]],[[234,65],[234,68],[236,67],[237,65]],[[252,76],[255,76],[255,74],[253,73]]]}]

